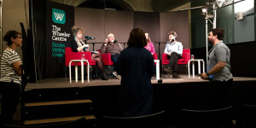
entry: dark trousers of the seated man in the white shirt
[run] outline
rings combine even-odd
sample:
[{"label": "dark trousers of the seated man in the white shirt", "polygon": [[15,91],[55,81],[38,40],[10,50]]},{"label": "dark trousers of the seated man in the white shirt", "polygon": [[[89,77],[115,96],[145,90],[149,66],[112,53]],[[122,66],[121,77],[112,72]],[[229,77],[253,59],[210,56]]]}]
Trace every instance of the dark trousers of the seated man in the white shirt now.
[{"label": "dark trousers of the seated man in the white shirt", "polygon": [[172,52],[171,55],[167,55],[169,59],[169,66],[172,67],[172,73],[177,73],[177,60],[181,59],[182,56],[177,54],[177,52]]}]

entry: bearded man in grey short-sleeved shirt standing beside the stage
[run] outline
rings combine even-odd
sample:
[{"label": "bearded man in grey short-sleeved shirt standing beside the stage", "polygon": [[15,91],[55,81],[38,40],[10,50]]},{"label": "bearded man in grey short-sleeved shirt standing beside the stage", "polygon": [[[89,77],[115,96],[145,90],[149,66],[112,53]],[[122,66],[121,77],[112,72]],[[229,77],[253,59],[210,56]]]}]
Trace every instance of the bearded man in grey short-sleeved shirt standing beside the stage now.
[{"label": "bearded man in grey short-sleeved shirt standing beside the stage", "polygon": [[233,83],[230,73],[230,49],[224,44],[224,30],[212,29],[208,34],[209,43],[213,45],[208,52],[207,73],[201,74],[201,79],[209,79],[212,92],[212,106],[227,106],[227,96]]}]

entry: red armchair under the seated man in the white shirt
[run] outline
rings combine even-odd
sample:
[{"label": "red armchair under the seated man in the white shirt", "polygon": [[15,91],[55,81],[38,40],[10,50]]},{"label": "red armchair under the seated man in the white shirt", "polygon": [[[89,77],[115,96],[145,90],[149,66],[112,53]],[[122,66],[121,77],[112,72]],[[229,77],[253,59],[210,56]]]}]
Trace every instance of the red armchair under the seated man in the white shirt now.
[{"label": "red armchair under the seated man in the white shirt", "polygon": [[[186,65],[188,67],[188,61],[190,60],[190,49],[183,49],[182,59],[177,60],[178,65]],[[162,65],[168,65],[169,59],[165,53],[162,53]],[[186,70],[187,71],[187,70]]]}]

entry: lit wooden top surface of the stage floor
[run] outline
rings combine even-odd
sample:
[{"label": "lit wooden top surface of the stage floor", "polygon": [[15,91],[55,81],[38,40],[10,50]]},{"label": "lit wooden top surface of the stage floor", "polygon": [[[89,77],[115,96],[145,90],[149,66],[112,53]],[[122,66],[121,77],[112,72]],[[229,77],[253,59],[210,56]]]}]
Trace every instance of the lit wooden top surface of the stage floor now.
[{"label": "lit wooden top surface of the stage floor", "polygon": [[[189,83],[189,82],[208,82],[195,76],[195,79],[192,77],[189,79],[188,75],[180,75],[181,79],[172,79],[172,75],[161,76],[163,84],[175,84],[175,83]],[[256,78],[243,78],[243,77],[234,77],[234,81],[256,81]],[[155,77],[152,77],[152,84],[157,84]],[[86,87],[86,86],[103,86],[103,85],[119,85],[120,79],[110,78],[109,80],[102,79],[90,79],[90,82],[87,82],[87,79],[84,79],[84,83],[81,83],[79,79],[78,82],[75,82],[73,79],[72,83],[69,83],[69,79],[60,78],[60,79],[41,79],[36,83],[26,84],[25,90],[33,89],[49,89],[49,88],[70,88],[70,87]]]}]

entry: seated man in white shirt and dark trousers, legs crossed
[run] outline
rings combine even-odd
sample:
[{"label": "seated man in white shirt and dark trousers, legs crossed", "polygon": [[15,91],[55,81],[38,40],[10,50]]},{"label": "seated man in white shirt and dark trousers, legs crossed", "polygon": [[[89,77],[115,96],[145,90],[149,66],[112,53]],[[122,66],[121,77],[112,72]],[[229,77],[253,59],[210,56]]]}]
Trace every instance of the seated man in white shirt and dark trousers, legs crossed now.
[{"label": "seated man in white shirt and dark trousers, legs crossed", "polygon": [[164,53],[170,60],[169,65],[166,68],[167,72],[172,70],[172,78],[179,79],[180,76],[177,75],[177,60],[182,58],[183,55],[183,44],[177,42],[177,33],[168,32],[169,41],[166,43],[166,49]]}]

